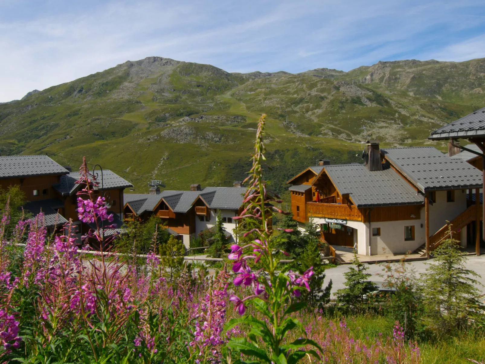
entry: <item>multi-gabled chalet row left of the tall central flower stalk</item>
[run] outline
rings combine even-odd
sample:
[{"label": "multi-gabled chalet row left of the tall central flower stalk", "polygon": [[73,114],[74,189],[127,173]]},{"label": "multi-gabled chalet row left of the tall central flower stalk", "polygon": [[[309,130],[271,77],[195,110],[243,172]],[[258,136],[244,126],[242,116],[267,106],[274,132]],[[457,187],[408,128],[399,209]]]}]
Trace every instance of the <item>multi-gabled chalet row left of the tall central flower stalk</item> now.
[{"label": "multi-gabled chalet row left of the tall central flower stalk", "polygon": [[146,221],[151,215],[161,217],[189,248],[190,239],[215,225],[220,211],[224,228],[232,237],[236,227],[233,218],[239,215],[245,191],[241,182],[235,186],[201,189],[200,184],[193,184],[190,191],[154,190],[151,194],[125,194],[124,220]]}]

